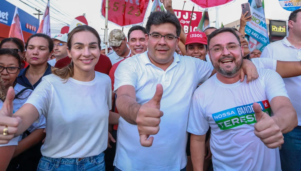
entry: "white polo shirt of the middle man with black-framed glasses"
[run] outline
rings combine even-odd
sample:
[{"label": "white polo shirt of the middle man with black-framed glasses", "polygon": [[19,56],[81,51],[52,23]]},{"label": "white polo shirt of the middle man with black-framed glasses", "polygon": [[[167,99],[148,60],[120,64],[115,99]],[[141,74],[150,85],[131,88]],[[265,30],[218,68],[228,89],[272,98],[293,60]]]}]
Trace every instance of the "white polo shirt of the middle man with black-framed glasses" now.
[{"label": "white polo shirt of the middle man with black-framed glasses", "polygon": [[209,78],[211,63],[174,53],[174,60],[166,71],[156,67],[147,51],[122,61],[115,71],[114,91],[122,85],[132,85],[136,101],[144,104],[162,84],[160,131],[151,147],[140,144],[136,125],[119,118],[114,166],[121,170],[166,171],[183,169],[187,164],[186,132],[190,101],[200,82]]}]

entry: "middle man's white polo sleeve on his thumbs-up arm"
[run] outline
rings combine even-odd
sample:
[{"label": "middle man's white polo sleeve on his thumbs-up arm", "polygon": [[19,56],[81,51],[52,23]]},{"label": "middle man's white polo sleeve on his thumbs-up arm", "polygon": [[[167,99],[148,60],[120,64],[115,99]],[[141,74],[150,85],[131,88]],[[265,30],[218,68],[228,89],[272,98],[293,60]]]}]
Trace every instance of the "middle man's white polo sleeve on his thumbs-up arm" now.
[{"label": "middle man's white polo sleeve on his thumbs-up arm", "polygon": [[123,86],[123,85],[132,85],[136,88],[138,73],[136,72],[137,66],[133,64],[132,60],[125,60],[122,61],[114,75],[115,75],[115,82],[114,82],[114,93],[116,90]]}]

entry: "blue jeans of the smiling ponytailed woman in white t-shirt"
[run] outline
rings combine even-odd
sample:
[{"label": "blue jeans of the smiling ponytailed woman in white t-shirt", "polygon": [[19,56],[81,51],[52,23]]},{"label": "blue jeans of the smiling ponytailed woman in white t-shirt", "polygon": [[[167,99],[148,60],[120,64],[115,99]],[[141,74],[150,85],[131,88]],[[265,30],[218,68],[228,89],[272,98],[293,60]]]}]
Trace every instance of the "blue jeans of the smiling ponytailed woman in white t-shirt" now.
[{"label": "blue jeans of the smiling ponytailed woman in white t-shirt", "polygon": [[105,171],[104,153],[86,158],[50,158],[43,156],[37,171]]}]

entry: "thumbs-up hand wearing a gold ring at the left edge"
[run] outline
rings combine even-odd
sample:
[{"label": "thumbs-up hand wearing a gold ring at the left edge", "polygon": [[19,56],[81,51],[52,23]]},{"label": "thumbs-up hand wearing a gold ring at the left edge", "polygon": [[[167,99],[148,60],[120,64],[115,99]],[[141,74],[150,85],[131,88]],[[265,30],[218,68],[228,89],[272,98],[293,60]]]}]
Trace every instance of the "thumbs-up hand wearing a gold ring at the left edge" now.
[{"label": "thumbs-up hand wearing a gold ring at the left edge", "polygon": [[17,128],[20,123],[19,117],[12,117],[14,111],[14,97],[14,88],[10,87],[0,110],[0,144],[7,144],[12,138],[14,138],[14,134],[17,133]]}]

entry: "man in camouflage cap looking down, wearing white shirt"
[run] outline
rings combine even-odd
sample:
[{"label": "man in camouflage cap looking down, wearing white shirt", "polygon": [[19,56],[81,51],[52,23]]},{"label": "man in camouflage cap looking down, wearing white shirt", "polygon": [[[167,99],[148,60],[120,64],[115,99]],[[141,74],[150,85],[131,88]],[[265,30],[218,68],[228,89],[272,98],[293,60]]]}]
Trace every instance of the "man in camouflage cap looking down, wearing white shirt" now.
[{"label": "man in camouflage cap looking down, wearing white shirt", "polygon": [[109,45],[113,49],[113,52],[108,53],[107,57],[110,58],[112,65],[130,56],[131,50],[126,44],[126,35],[123,31],[114,29],[110,32]]}]

